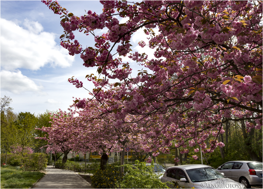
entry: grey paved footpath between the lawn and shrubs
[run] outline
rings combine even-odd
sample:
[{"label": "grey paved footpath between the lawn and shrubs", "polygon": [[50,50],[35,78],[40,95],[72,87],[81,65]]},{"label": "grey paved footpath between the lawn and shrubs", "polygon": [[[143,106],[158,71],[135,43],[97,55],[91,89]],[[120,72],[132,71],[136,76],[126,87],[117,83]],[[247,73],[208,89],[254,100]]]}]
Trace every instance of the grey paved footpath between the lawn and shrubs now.
[{"label": "grey paved footpath between the lawn and shrubs", "polygon": [[91,184],[74,171],[53,168],[48,165],[46,175],[33,188],[92,188]]}]

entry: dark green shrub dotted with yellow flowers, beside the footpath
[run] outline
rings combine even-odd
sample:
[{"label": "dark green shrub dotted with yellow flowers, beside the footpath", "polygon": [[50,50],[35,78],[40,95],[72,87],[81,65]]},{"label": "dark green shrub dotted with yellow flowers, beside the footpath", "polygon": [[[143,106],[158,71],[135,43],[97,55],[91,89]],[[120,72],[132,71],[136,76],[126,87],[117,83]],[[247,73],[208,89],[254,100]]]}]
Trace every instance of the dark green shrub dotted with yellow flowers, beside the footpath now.
[{"label": "dark green shrub dotted with yellow flowers, beside the footpath", "polygon": [[96,170],[91,176],[92,187],[94,188],[116,188],[121,182],[120,171],[117,166],[107,165],[104,171]]}]

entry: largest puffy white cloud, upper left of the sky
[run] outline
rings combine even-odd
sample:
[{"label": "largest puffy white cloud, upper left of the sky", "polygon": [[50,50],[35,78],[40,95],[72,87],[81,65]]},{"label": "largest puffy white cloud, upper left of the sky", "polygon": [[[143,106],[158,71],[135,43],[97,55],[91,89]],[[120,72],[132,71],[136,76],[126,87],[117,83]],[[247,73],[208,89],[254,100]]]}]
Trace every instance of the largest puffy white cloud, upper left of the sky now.
[{"label": "largest puffy white cloud, upper left of the sky", "polygon": [[2,69],[38,70],[46,64],[71,66],[74,56],[55,42],[54,33],[43,32],[41,24],[29,20],[25,20],[24,28],[1,18]]}]

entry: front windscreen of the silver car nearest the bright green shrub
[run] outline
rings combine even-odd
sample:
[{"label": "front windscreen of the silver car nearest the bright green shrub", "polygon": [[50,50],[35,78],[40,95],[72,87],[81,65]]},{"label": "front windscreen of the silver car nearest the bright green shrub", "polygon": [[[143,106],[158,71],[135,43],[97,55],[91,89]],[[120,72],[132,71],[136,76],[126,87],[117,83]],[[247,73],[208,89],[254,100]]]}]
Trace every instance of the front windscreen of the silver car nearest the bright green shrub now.
[{"label": "front windscreen of the silver car nearest the bright green shrub", "polygon": [[202,182],[202,181],[226,178],[221,173],[219,173],[217,170],[211,167],[188,169],[186,170],[186,173],[188,174],[192,182]]}]

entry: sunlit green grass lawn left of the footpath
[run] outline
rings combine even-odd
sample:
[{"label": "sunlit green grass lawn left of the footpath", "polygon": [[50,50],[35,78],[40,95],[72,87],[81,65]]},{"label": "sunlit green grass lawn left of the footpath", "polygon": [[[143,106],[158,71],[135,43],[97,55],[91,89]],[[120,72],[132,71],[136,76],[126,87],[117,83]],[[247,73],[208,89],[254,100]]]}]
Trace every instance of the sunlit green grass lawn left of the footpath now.
[{"label": "sunlit green grass lawn left of the footpath", "polygon": [[31,188],[45,173],[16,170],[15,167],[1,167],[1,188]]}]

